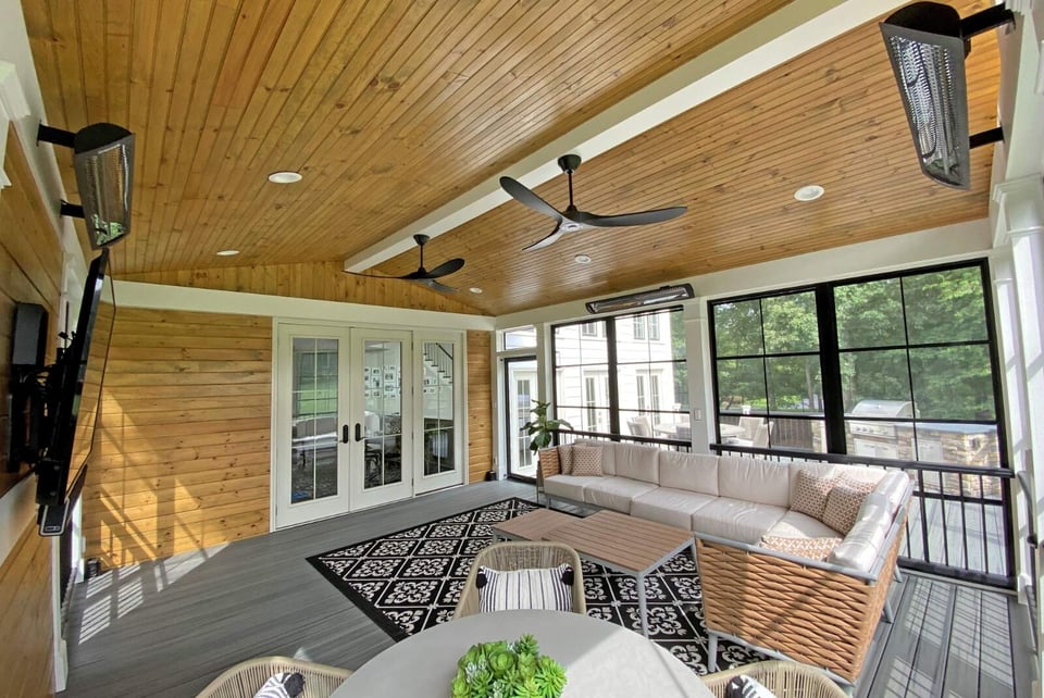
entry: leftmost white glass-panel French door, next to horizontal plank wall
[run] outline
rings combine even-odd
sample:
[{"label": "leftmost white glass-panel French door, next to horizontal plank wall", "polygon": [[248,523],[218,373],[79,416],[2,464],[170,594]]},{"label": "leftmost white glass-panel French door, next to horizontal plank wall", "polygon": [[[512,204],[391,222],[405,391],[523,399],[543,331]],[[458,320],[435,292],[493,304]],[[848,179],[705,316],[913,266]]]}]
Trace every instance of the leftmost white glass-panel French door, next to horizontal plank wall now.
[{"label": "leftmost white glass-panel French door, next to horizontal plank wall", "polygon": [[277,337],[276,527],[348,511],[341,443],[347,390],[341,329],[283,325]]}]

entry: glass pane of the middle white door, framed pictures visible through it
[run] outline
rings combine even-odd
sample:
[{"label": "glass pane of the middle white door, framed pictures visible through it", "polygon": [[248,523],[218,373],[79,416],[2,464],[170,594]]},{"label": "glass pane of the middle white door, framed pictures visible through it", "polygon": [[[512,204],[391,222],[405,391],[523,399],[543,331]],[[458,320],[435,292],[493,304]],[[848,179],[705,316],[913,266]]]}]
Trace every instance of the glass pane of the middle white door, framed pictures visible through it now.
[{"label": "glass pane of the middle white door, framed pictures visible through it", "polygon": [[402,482],[402,342],[364,345],[365,489]]}]

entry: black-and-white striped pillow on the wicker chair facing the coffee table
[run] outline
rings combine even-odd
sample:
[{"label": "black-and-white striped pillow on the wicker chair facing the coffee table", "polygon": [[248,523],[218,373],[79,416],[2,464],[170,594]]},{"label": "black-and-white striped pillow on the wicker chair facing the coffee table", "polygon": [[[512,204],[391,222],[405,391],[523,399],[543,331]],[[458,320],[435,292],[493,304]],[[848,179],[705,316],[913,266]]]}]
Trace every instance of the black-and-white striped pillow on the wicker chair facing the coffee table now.
[{"label": "black-and-white striped pillow on the wicker chair facing the coffee table", "polygon": [[478,610],[509,611],[540,609],[573,610],[573,569],[568,564],[546,570],[509,570],[478,568]]}]

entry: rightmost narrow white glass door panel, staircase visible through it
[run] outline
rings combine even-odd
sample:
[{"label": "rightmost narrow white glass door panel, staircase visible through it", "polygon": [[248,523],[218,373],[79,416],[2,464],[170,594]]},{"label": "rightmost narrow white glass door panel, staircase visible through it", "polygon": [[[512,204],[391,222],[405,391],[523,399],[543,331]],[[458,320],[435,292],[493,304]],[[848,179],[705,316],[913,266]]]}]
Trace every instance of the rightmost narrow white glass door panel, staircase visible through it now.
[{"label": "rightmost narrow white glass door panel, staircase visible through it", "polygon": [[418,424],[415,466],[417,493],[431,491],[463,483],[460,392],[461,360],[459,336],[439,338],[418,333],[414,366],[421,376],[414,388]]}]

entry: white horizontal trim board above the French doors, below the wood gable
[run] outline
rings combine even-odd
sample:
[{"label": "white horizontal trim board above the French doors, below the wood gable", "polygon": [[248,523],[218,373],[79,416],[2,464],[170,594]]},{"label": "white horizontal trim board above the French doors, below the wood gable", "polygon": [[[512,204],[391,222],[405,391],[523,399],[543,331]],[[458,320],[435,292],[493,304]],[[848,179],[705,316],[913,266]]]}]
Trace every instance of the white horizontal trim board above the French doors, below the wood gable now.
[{"label": "white horizontal trim board above the French doors, below the wood gable", "polygon": [[[115,282],[116,308],[151,308],[156,310],[187,310],[208,313],[232,313],[278,317],[281,321],[307,320],[320,322],[401,325],[437,329],[494,329],[489,315],[445,313],[434,310],[391,308],[341,303],[332,300],[265,296],[240,291],[164,286],[140,282]],[[119,312],[119,310],[117,310]]]}]

